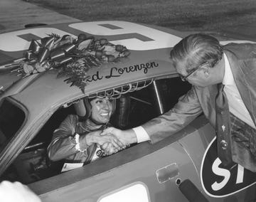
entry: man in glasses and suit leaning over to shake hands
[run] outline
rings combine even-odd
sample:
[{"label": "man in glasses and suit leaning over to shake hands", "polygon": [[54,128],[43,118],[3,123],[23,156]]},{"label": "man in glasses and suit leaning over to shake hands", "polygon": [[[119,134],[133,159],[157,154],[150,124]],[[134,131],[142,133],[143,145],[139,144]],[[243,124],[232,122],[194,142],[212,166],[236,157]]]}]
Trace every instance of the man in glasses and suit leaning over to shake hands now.
[{"label": "man in glasses and suit leaning over to shake hands", "polygon": [[[228,99],[228,124],[218,135],[218,155],[223,164],[234,161],[256,171],[256,45],[230,43],[220,46],[212,36],[197,33],[183,38],[171,50],[171,60],[182,80],[193,86],[173,109],[140,127],[121,131],[110,128],[125,144],[159,142],[186,127],[202,112],[217,130],[215,97],[223,84]],[[220,111],[224,115],[224,111]],[[229,130],[227,130],[229,129]]]}]

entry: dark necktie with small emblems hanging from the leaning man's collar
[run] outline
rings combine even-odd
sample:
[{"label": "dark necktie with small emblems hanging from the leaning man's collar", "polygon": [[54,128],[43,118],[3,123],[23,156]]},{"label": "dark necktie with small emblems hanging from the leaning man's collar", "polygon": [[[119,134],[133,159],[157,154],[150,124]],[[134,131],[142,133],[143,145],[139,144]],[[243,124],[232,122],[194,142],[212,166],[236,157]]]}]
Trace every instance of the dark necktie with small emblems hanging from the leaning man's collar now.
[{"label": "dark necktie with small emblems hanging from the leaning man's collar", "polygon": [[230,112],[228,98],[224,92],[224,85],[218,84],[218,94],[215,99],[218,157],[224,166],[232,163],[231,137],[230,137]]}]

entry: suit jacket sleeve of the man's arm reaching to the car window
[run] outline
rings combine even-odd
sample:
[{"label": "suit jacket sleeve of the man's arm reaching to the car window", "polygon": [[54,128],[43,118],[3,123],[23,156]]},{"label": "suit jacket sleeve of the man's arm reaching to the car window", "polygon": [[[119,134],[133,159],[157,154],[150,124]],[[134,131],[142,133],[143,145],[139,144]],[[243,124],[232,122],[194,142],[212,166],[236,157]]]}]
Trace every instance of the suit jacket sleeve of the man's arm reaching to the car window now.
[{"label": "suit jacket sleeve of the man's arm reaching to the car window", "polygon": [[186,95],[179,98],[174,108],[159,117],[151,119],[142,127],[149,134],[151,143],[154,144],[183,129],[202,112],[195,87],[192,87]]}]

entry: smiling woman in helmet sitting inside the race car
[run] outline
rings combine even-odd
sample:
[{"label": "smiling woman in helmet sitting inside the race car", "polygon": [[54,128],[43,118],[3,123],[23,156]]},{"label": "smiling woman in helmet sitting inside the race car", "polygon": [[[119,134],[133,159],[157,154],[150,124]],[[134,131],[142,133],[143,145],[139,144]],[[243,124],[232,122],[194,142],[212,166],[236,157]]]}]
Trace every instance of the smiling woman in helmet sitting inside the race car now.
[{"label": "smiling woman in helmet sitting inside the race car", "polygon": [[[81,108],[83,109],[81,110]],[[113,135],[101,136],[115,110],[115,100],[110,97],[84,98],[75,109],[78,115],[68,115],[53,132],[48,146],[51,161],[65,159],[68,163],[89,164],[107,154],[123,149],[124,145]],[[104,151],[102,148],[108,148]]]}]

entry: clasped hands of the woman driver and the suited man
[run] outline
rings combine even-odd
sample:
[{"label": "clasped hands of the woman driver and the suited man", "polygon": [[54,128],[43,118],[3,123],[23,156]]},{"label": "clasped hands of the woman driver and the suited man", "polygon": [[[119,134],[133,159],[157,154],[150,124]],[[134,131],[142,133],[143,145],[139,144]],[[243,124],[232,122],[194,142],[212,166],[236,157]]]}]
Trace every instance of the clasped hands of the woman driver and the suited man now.
[{"label": "clasped hands of the woman driver and the suited man", "polygon": [[117,151],[125,149],[130,144],[137,142],[136,134],[132,129],[120,130],[109,127],[103,130],[103,132],[92,132],[90,136],[90,142],[99,145],[107,155],[117,153]]}]

